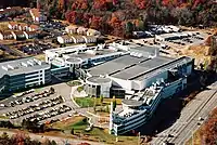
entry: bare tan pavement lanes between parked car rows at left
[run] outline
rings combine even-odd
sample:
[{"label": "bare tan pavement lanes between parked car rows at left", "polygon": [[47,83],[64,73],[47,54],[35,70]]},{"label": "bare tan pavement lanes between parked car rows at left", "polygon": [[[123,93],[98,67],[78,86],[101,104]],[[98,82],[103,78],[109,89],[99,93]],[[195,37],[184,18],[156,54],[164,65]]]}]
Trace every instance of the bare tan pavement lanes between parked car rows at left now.
[{"label": "bare tan pavement lanes between parked car rows at left", "polygon": [[[17,97],[17,98],[14,98],[13,96],[7,98],[7,100],[3,100],[0,102],[0,104],[5,104],[5,105],[9,105],[9,103],[11,101],[16,101],[16,100],[20,100],[20,98],[23,98],[23,97],[26,97],[26,96],[31,96],[33,94],[35,93],[38,93],[38,92],[42,92],[44,90],[49,90],[51,85],[49,87],[44,87],[44,88],[41,88],[41,89],[37,89],[36,92],[31,93],[31,94],[27,94],[27,95],[24,95],[22,97]],[[54,97],[58,97],[58,96],[62,96],[64,102],[61,103],[61,104],[58,104],[53,107],[48,107],[48,108],[44,108],[44,109],[41,109],[39,111],[34,111],[31,114],[27,114],[27,115],[24,115],[22,117],[18,117],[17,119],[11,119],[12,122],[15,122],[15,123],[21,123],[22,120],[24,118],[28,118],[35,114],[39,114],[39,113],[42,113],[42,111],[48,111],[52,108],[58,108],[62,105],[66,105],[66,106],[69,106],[72,108],[71,111],[66,111],[64,114],[60,114],[60,115],[56,115],[54,117],[51,117],[51,118],[48,118],[48,119],[44,119],[42,120],[41,122],[46,122],[46,121],[50,121],[50,120],[55,120],[55,119],[64,119],[66,117],[68,117],[68,115],[73,115],[75,114],[77,110],[75,110],[76,106],[72,103],[72,100],[71,100],[71,87],[68,87],[66,83],[59,83],[59,84],[55,84],[55,85],[52,85],[52,88],[54,88],[55,90],[55,93],[50,95],[50,96],[47,96],[47,97],[42,97],[42,98],[39,98],[37,101],[34,101],[34,102],[29,102],[29,103],[24,103],[22,105],[15,105],[14,107],[1,107],[0,108],[0,115],[2,114],[5,114],[5,113],[11,113],[11,111],[14,111],[14,110],[18,110],[18,109],[22,109],[22,108],[26,108],[28,106],[31,106],[31,105],[35,105],[35,104],[39,104],[43,101],[48,101],[48,100],[51,100],[51,98],[54,98]]]}]

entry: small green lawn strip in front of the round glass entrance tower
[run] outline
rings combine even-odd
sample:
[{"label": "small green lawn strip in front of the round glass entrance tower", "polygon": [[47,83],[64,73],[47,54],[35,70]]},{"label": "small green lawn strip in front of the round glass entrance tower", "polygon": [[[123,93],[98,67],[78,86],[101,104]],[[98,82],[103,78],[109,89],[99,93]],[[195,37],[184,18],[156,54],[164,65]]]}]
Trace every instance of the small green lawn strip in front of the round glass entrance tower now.
[{"label": "small green lawn strip in front of the round glass entrance tower", "polygon": [[[106,106],[110,105],[111,102],[113,101],[113,98],[103,98],[103,103],[100,103],[100,98],[99,97],[75,97],[75,102],[80,106],[80,107],[93,107],[94,102],[95,102],[95,106]],[[122,100],[120,98],[116,98],[116,103],[117,105],[122,104]]]}]

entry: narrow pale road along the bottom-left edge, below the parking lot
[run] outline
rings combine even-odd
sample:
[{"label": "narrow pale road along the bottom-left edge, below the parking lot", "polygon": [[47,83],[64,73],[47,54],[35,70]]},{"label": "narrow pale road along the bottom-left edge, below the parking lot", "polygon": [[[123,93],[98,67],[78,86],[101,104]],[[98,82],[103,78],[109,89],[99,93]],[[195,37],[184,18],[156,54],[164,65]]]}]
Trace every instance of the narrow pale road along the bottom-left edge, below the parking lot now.
[{"label": "narrow pale road along the bottom-left edge, below the parking lot", "polygon": [[[3,132],[7,132],[9,134],[9,136],[12,136],[14,134],[16,134],[17,132],[13,132],[13,131],[0,131],[0,135],[3,133]],[[61,137],[61,136],[51,136],[51,135],[39,135],[39,134],[34,134],[34,133],[28,133],[26,134],[28,135],[31,140],[37,140],[37,141],[44,141],[46,139],[49,139],[50,141],[55,141],[55,143],[58,145],[66,145],[66,143],[71,144],[71,145],[77,145],[77,144],[80,144],[80,143],[89,143],[91,145],[104,145],[104,143],[97,143],[97,142],[90,142],[90,141],[82,141],[82,140],[79,140],[79,139],[65,139],[65,137]]]}]

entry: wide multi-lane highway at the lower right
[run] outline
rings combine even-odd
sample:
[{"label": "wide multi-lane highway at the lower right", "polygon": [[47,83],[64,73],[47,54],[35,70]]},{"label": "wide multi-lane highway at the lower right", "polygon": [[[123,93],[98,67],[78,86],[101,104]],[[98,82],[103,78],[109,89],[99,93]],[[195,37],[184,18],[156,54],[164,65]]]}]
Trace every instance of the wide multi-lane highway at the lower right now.
[{"label": "wide multi-lane highway at the lower right", "polygon": [[[181,111],[180,118],[168,129],[158,133],[152,145],[162,145],[164,142],[183,145],[200,128],[199,117],[206,119],[208,114],[217,106],[217,89],[205,90],[197,94]],[[170,136],[168,136],[170,134]]]}]

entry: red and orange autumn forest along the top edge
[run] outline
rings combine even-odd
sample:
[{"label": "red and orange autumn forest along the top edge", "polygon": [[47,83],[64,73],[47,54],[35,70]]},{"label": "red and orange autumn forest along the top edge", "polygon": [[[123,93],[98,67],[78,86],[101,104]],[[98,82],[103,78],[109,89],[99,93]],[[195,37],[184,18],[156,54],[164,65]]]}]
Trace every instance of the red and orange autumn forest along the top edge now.
[{"label": "red and orange autumn forest along the top edge", "polygon": [[38,0],[37,6],[51,18],[126,38],[133,30],[145,30],[148,24],[203,27],[217,24],[214,0]]}]

